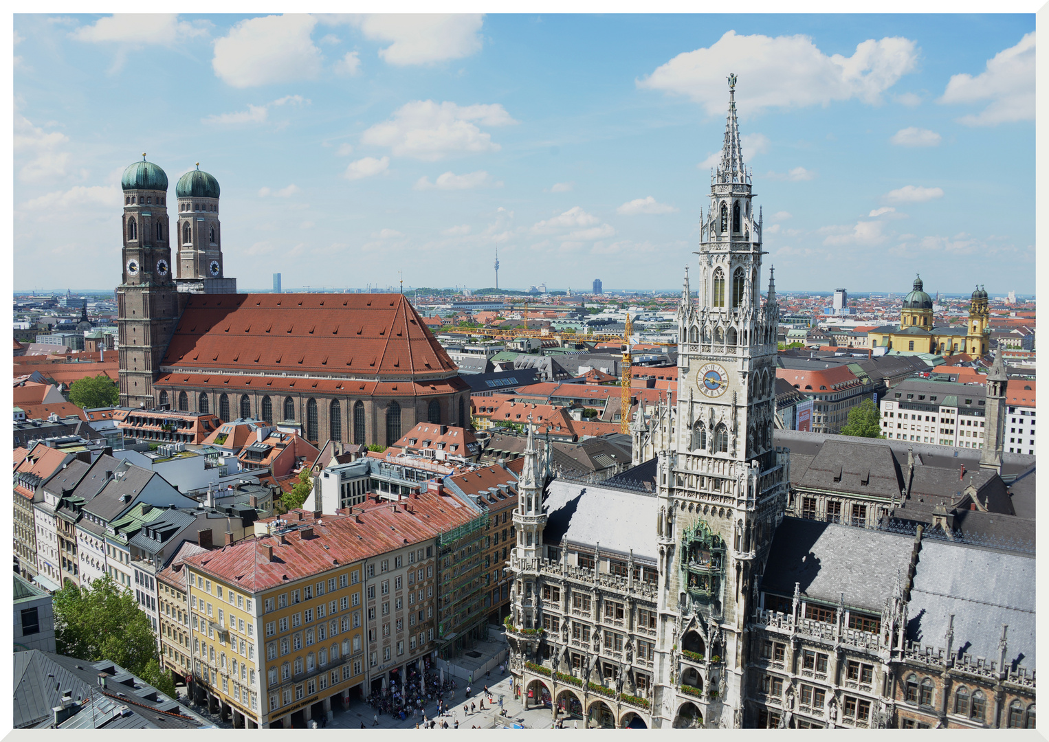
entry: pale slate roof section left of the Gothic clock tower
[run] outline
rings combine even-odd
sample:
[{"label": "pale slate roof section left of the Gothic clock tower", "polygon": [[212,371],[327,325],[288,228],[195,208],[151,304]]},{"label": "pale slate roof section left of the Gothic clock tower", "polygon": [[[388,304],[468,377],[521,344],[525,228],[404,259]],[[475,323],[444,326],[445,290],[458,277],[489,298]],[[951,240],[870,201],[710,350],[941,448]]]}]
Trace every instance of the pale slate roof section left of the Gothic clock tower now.
[{"label": "pale slate roof section left of the Gothic clock tower", "polygon": [[627,493],[600,484],[555,479],[547,488],[548,514],[544,543],[569,541],[656,561],[656,523],[659,502],[655,495]]}]

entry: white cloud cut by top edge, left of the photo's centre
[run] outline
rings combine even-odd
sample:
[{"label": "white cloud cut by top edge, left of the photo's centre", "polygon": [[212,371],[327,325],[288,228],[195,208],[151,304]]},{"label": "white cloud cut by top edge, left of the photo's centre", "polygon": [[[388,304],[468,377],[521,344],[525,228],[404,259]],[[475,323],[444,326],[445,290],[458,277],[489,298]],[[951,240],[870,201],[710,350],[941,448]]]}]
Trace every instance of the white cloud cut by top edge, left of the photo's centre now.
[{"label": "white cloud cut by top edge, left of the photo's centre", "polygon": [[379,56],[397,66],[462,59],[481,47],[479,14],[377,14],[346,20],[367,39],[392,42]]}]

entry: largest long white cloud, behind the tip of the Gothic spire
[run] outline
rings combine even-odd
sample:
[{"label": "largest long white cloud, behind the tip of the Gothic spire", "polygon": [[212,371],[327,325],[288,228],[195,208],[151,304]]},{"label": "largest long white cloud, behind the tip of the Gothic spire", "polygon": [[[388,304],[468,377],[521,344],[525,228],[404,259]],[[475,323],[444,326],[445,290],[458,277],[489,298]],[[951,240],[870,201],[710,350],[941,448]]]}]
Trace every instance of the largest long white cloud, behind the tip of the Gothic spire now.
[{"label": "largest long white cloud, behind the tip of the Gothic spire", "polygon": [[738,36],[730,30],[708,48],[678,54],[637,85],[688,95],[711,115],[725,112],[730,72],[738,75],[736,102],[748,114],[853,97],[877,104],[917,60],[917,45],[902,37],[870,39],[852,57],[828,57],[807,36]]}]

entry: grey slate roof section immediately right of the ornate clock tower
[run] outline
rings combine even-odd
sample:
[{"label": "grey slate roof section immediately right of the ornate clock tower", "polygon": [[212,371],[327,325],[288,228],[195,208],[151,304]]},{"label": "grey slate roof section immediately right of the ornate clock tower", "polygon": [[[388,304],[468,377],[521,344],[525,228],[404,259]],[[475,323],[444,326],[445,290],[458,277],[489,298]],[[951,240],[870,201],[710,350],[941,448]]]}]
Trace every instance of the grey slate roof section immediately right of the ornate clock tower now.
[{"label": "grey slate roof section immediately right of the ornate clock tower", "polygon": [[784,518],[769,547],[762,590],[801,595],[847,607],[880,612],[906,577],[914,538],[835,523]]}]

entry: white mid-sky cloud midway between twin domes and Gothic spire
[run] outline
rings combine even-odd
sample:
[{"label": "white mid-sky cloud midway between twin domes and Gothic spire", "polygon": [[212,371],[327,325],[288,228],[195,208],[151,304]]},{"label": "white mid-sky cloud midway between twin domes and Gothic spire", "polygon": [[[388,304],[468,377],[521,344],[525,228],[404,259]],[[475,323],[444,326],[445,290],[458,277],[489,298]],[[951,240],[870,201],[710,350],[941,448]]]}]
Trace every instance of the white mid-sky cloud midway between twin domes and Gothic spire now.
[{"label": "white mid-sky cloud midway between twin domes and Gothic spire", "polygon": [[389,121],[365,130],[361,141],[389,147],[395,155],[430,161],[453,153],[498,152],[499,145],[477,124],[505,126],[516,122],[497,103],[458,106],[447,101],[412,101],[394,111]]}]

